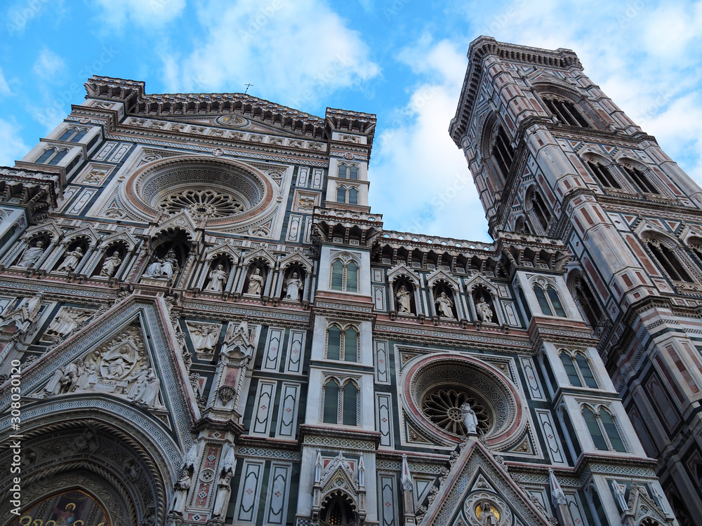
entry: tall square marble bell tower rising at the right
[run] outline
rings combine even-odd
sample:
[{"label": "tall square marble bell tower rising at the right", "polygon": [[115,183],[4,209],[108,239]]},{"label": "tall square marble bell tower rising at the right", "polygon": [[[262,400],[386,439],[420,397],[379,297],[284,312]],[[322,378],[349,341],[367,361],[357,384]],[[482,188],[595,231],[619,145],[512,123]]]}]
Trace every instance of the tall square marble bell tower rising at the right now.
[{"label": "tall square marble bell tower rising at the right", "polygon": [[573,51],[481,36],[468,58],[449,132],[490,234],[567,243],[583,321],[680,523],[692,524],[702,514],[702,189]]}]

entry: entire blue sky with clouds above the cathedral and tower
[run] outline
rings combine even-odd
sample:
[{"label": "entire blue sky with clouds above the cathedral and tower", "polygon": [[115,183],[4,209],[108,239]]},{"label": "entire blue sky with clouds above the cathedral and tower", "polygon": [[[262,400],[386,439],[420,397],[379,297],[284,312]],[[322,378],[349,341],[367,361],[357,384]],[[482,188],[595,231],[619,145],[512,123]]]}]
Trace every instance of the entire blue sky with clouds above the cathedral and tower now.
[{"label": "entire blue sky with clouds above the cathedral and tower", "polygon": [[571,48],[585,73],[702,182],[702,1],[6,0],[0,165],[85,95],[92,74],[148,93],[241,92],[378,115],[371,206],[386,229],[487,241],[447,133],[481,34]]}]

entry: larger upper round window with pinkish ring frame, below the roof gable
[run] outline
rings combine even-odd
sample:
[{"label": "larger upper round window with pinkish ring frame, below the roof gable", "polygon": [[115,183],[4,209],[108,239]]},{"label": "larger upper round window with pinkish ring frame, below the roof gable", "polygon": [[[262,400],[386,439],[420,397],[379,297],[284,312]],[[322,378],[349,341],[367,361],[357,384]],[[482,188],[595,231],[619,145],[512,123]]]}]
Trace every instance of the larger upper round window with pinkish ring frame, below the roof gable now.
[{"label": "larger upper round window with pinkish ring frame, below the roof gable", "polygon": [[247,220],[273,201],[272,186],[247,166],[208,157],[173,157],[135,172],[126,184],[131,203],[149,215],[187,211],[195,220]]}]

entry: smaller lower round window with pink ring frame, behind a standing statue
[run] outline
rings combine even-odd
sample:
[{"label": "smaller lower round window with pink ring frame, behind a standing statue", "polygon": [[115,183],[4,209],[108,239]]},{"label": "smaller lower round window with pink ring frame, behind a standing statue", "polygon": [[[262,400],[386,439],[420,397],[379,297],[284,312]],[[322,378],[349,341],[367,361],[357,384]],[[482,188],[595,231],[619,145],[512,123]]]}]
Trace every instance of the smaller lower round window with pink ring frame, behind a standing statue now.
[{"label": "smaller lower round window with pink ring frame, behind a standing statue", "polygon": [[501,370],[472,356],[432,353],[412,360],[402,373],[406,415],[437,443],[466,434],[461,406],[469,403],[478,434],[491,446],[507,444],[524,431],[524,400]]}]

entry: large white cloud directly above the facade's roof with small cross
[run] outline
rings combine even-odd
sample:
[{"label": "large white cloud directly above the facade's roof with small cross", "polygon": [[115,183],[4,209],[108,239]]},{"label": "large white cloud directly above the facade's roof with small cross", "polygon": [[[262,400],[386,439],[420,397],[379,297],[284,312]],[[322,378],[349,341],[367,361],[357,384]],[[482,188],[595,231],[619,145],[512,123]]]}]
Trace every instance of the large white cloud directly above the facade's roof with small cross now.
[{"label": "large white cloud directly above the facade's roof with small cross", "polygon": [[203,42],[185,58],[162,55],[172,92],[243,91],[251,83],[249,93],[304,111],[380,71],[361,36],[322,0],[211,1],[199,19]]}]

